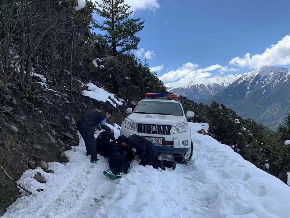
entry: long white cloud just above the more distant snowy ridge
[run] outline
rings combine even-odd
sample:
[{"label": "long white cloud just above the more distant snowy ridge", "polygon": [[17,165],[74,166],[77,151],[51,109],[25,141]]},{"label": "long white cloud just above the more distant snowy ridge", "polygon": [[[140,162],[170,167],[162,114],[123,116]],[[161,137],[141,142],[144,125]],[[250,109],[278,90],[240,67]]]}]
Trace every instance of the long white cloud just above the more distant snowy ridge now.
[{"label": "long white cloud just above the more distant snowy ridge", "polygon": [[171,82],[176,81],[177,79],[180,79],[180,81],[186,81],[189,79],[189,77],[194,79],[201,79],[210,77],[212,73],[208,71],[214,71],[218,70],[219,72],[222,72],[220,75],[223,74],[224,71],[237,71],[235,68],[229,68],[228,66],[221,66],[219,64],[214,64],[205,68],[199,68],[198,64],[194,64],[191,62],[188,62],[181,66],[177,70],[171,70],[168,73],[163,74],[160,79],[163,82]]}]

